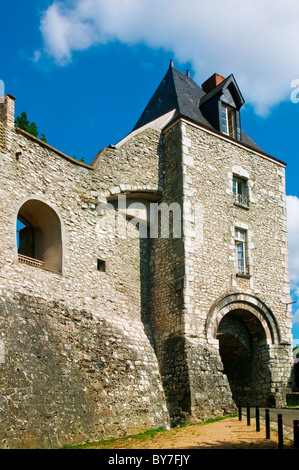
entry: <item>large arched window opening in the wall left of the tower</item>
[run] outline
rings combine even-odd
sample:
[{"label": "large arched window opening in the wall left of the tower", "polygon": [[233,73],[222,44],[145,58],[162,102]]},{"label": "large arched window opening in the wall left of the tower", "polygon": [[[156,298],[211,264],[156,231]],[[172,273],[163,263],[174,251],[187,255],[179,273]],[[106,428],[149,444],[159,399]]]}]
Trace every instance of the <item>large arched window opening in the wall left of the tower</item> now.
[{"label": "large arched window opening in the wall left of the tower", "polygon": [[26,201],[17,224],[18,259],[51,271],[62,271],[61,223],[50,206],[38,199]]}]

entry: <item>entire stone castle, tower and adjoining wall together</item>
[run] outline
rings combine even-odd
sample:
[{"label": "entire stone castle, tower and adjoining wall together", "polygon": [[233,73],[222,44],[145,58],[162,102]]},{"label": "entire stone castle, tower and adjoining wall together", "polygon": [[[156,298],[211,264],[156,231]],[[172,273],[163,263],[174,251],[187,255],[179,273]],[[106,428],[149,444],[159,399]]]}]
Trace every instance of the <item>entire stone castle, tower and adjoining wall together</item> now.
[{"label": "entire stone castle, tower and adjoining wall together", "polygon": [[49,448],[280,406],[293,358],[285,163],[233,75],[173,63],[88,165],[0,103],[0,447]]}]

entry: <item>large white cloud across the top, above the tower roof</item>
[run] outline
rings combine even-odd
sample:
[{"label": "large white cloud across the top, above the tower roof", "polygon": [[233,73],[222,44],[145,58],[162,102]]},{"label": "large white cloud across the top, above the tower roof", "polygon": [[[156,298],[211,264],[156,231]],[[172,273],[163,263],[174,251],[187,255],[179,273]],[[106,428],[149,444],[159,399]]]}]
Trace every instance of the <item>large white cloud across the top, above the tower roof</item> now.
[{"label": "large white cloud across the top, above the tower roof", "polygon": [[57,63],[119,40],[171,50],[195,80],[234,73],[256,112],[289,98],[298,78],[297,0],[69,0],[45,11],[41,32]]}]

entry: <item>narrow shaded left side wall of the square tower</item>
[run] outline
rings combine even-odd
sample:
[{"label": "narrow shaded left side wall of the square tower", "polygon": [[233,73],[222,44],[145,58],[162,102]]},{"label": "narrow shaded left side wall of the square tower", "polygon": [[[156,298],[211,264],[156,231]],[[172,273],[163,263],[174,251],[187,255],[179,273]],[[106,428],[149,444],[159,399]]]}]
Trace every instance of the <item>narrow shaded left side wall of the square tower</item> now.
[{"label": "narrow shaded left side wall of the square tower", "polygon": [[[181,172],[181,131],[174,127],[164,136],[165,186],[160,206],[176,204],[178,213],[169,211],[169,237],[151,240],[151,328],[173,425],[190,415],[190,383],[186,362],[184,325],[184,240],[183,187]],[[161,218],[163,216],[161,215]],[[175,224],[181,235],[173,236]]]}]

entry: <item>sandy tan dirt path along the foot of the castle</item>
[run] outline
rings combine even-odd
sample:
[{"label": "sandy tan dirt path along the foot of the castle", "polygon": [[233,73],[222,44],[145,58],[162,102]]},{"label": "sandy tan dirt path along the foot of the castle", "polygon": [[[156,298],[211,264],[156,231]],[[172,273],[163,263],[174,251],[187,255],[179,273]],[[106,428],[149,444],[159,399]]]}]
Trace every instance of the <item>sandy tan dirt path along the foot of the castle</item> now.
[{"label": "sandy tan dirt path along the foot of the castle", "polygon": [[[284,448],[293,443],[284,439]],[[265,426],[261,424],[256,432],[255,420],[248,426],[246,420],[226,418],[218,422],[190,425],[157,433],[154,437],[140,436],[121,438],[90,444],[97,449],[277,449],[278,434],[271,429],[270,439],[266,439]]]}]

